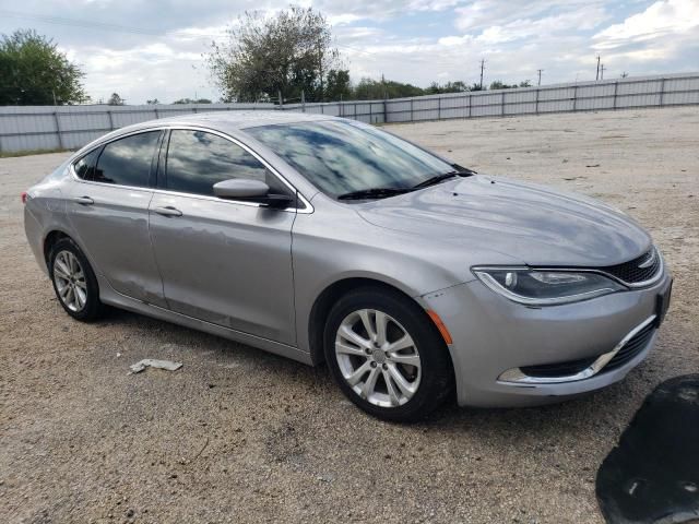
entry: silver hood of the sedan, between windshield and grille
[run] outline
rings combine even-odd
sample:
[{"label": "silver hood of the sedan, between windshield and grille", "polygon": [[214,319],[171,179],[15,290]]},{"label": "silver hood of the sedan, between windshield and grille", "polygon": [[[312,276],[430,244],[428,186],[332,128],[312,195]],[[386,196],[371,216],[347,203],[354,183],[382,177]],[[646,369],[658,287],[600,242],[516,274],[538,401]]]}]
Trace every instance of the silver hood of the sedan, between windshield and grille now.
[{"label": "silver hood of the sedan, between windshield and grille", "polygon": [[497,251],[529,265],[605,266],[640,257],[651,238],[621,212],[581,195],[477,175],[357,205],[367,222]]}]

